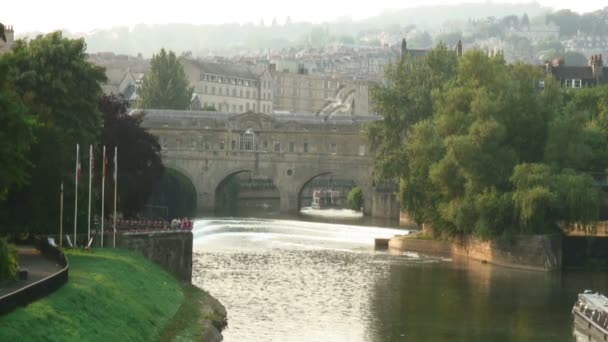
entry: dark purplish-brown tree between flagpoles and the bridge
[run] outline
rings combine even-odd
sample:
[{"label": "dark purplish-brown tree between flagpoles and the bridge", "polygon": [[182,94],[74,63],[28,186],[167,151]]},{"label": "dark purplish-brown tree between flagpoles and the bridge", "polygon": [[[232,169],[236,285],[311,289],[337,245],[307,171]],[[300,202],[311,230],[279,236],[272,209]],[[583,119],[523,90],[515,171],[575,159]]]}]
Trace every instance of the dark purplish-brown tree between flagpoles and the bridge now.
[{"label": "dark purplish-brown tree between flagpoles and the bridge", "polygon": [[[164,167],[158,139],[141,127],[145,113],[129,115],[127,106],[125,99],[114,95],[103,96],[99,103],[104,119],[102,142],[110,147],[110,154],[111,147],[118,147],[118,210],[133,217],[148,201]],[[111,191],[106,189],[106,193]],[[112,197],[106,199],[111,208]]]}]

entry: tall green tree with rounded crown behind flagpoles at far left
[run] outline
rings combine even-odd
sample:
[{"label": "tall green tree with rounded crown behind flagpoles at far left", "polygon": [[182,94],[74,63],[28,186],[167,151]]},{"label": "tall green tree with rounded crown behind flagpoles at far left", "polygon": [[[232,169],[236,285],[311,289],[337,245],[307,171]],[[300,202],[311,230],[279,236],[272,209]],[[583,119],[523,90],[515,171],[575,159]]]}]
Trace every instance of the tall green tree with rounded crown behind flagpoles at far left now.
[{"label": "tall green tree with rounded crown behind flagpoles at far left", "polygon": [[[55,231],[62,181],[66,212],[74,203],[75,146],[88,146],[99,138],[98,99],[100,83],[105,81],[103,68],[87,62],[85,49],[83,39],[66,39],[54,32],[17,41],[2,57],[10,66],[7,77],[14,92],[39,123],[34,130],[36,143],[27,154],[32,166],[29,183],[11,191],[0,204],[0,223],[8,229]],[[84,198],[85,187],[79,191]],[[70,216],[64,216],[68,227]],[[84,213],[80,222],[83,219]]]}]

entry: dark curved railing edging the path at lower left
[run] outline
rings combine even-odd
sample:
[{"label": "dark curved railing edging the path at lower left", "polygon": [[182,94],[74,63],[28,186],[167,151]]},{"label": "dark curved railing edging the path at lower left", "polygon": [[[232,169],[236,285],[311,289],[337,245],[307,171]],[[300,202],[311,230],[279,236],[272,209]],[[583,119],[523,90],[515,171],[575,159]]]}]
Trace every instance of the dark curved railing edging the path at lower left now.
[{"label": "dark curved railing edging the path at lower left", "polygon": [[40,279],[18,290],[0,297],[0,315],[7,314],[17,307],[28,305],[37,299],[48,296],[68,281],[68,259],[57,247],[51,246],[48,241],[37,243],[40,251],[56,260],[63,268],[50,276]]}]

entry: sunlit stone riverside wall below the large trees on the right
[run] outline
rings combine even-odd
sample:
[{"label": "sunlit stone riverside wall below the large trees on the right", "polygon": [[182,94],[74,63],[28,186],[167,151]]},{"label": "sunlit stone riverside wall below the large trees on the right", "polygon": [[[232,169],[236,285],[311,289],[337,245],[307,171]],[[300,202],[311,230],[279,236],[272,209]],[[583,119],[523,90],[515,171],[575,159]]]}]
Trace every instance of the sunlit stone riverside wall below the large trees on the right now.
[{"label": "sunlit stone riverside wall below the large trees on the right", "polygon": [[562,238],[559,235],[519,236],[511,241],[481,241],[475,238],[455,241],[398,236],[389,241],[397,251],[465,257],[489,264],[535,271],[562,268]]}]

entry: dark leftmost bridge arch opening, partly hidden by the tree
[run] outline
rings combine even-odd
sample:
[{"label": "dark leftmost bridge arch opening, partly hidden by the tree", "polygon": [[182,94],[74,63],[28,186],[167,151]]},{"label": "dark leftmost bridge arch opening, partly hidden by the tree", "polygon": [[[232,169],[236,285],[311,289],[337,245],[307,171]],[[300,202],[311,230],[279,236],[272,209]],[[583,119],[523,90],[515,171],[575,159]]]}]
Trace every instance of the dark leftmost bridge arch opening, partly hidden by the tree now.
[{"label": "dark leftmost bridge arch opening, partly hidden by the tree", "polygon": [[154,188],[144,215],[150,219],[170,220],[175,217],[193,217],[196,214],[196,188],[184,173],[165,168]]}]

